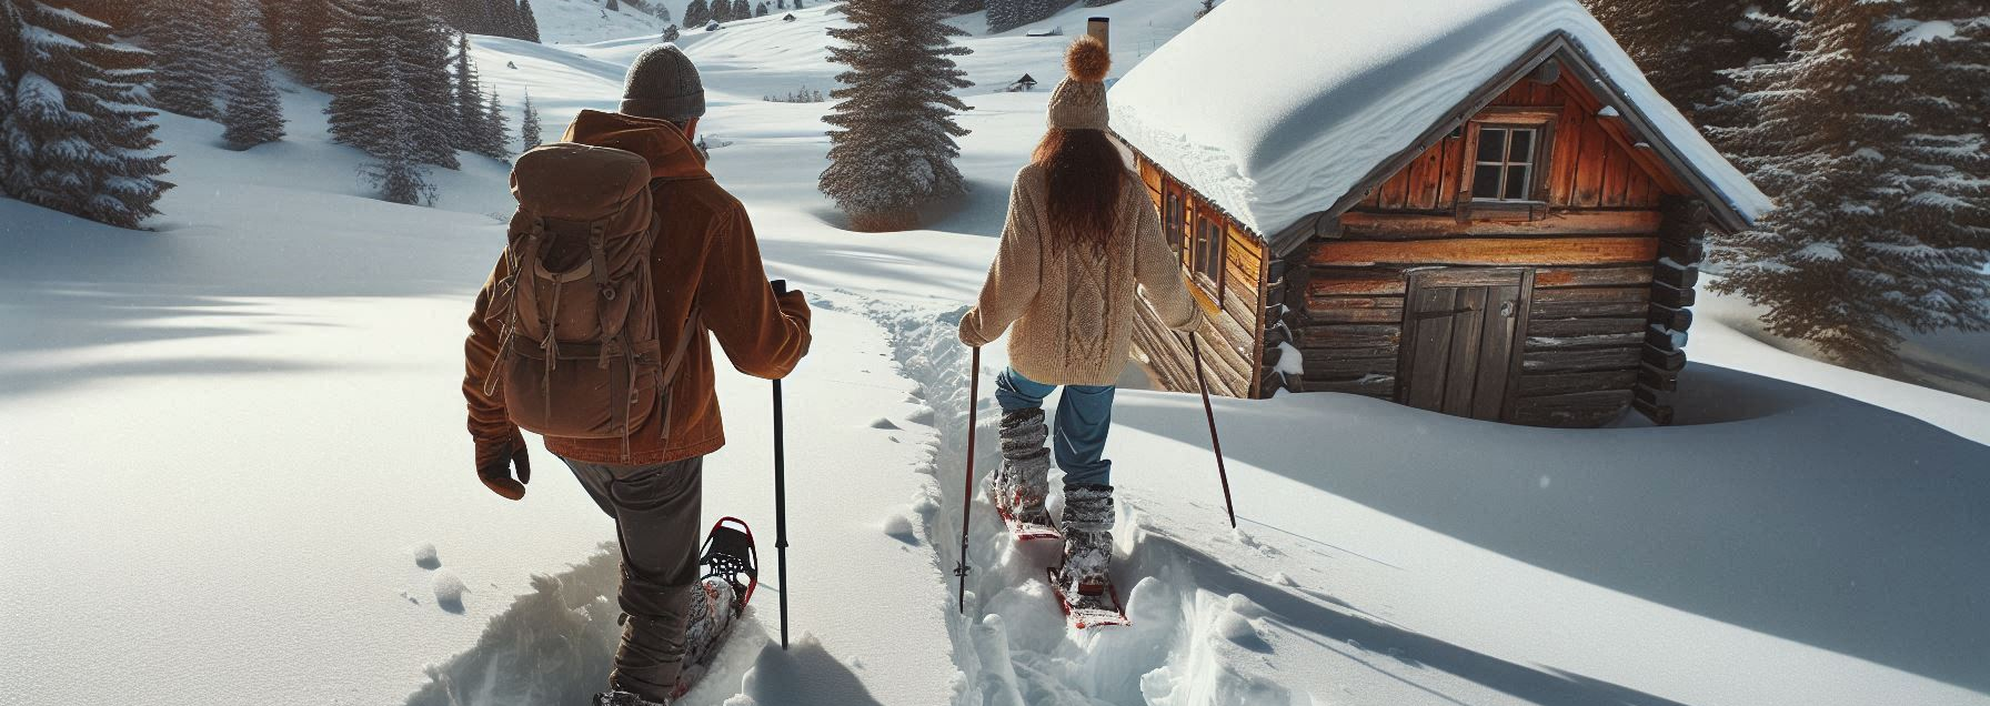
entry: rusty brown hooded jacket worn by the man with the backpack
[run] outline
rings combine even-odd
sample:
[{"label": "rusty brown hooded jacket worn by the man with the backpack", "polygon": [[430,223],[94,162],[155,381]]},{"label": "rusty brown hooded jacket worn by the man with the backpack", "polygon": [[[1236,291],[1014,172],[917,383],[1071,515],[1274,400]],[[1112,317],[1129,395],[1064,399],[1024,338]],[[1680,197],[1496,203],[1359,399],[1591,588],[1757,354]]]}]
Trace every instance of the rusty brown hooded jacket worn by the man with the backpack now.
[{"label": "rusty brown hooded jacket worn by the man with the backpack", "polygon": [[[760,266],[760,245],[754,241],[746,209],[704,171],[704,159],[691,147],[685,133],[657,119],[621,113],[581,111],[567,127],[565,141],[627,149],[649,159],[657,179],[657,235],[651,274],[657,288],[659,344],[675,350],[677,336],[696,336],[685,350],[685,366],[671,390],[671,436],[651,418],[623,455],[621,440],[547,438],[545,449],[555,455],[617,465],[653,465],[716,451],[726,443],[718,422],[718,396],[712,392],[710,330],[726,358],[740,372],[756,378],[782,378],[808,354],[808,302],[802,292],[776,298]],[[484,378],[496,356],[499,332],[484,320],[492,286],[505,276],[499,259],[492,278],[478,294],[470,314],[470,340],[464,342],[468,370],[464,398],[470,402],[470,436],[478,441],[503,445],[517,428],[503,410],[503,390],[484,394]],[[700,324],[685,330],[693,298],[700,308]]]}]

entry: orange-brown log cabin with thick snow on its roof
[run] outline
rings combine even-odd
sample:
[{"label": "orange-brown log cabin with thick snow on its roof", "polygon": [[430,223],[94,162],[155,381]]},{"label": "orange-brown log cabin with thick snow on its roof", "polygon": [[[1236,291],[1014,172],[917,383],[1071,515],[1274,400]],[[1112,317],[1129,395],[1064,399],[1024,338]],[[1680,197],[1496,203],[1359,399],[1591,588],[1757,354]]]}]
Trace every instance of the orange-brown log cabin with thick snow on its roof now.
[{"label": "orange-brown log cabin with thick snow on its roof", "polygon": [[[1110,103],[1212,394],[1670,424],[1703,235],[1769,209],[1574,0],[1230,0]],[[1142,312],[1160,386],[1188,344]]]}]

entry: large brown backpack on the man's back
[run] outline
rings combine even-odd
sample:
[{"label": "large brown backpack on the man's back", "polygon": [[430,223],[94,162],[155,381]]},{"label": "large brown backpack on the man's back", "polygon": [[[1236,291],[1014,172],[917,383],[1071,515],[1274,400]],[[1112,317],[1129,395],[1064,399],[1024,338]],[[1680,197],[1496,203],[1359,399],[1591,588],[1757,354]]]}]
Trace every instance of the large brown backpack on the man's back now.
[{"label": "large brown backpack on the man's back", "polygon": [[609,147],[553,143],[511,169],[505,263],[486,312],[501,330],[484,394],[503,388],[519,428],[575,440],[623,440],[651,416],[669,438],[671,384],[691,344],[696,304],[677,350],[663,356],[651,245],[649,161]]}]

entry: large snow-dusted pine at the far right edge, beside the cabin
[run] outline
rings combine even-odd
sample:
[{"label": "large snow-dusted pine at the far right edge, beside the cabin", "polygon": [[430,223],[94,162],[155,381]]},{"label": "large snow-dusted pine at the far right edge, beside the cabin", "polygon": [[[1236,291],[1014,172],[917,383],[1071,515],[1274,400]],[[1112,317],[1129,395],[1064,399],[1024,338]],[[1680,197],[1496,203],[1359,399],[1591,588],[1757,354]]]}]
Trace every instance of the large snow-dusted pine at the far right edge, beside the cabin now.
[{"label": "large snow-dusted pine at the far right edge, beside the cabin", "polygon": [[1755,121],[1715,131],[1777,211],[1715,243],[1711,288],[1894,374],[1906,332],[1990,328],[1990,22],[1976,0],[1795,6],[1789,58],[1733,72]]}]

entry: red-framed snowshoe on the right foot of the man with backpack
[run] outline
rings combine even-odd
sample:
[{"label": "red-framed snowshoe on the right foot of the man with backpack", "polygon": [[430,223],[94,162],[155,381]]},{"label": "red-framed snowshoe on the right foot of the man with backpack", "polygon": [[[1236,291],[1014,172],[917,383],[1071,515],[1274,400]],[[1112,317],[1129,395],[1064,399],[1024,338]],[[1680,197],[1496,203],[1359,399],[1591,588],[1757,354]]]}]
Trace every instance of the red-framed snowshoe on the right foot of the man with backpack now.
[{"label": "red-framed snowshoe on the right foot of the man with backpack", "polygon": [[746,601],[760,587],[760,551],[752,541],[752,529],[736,517],[712,523],[712,531],[704,537],[698,569],[702,579],[691,587],[691,613],[685,620],[685,668],[677,676],[677,688],[671,690],[673,700],[683,698],[710,672],[718,648],[724,646],[732,624],[746,611]]}]

